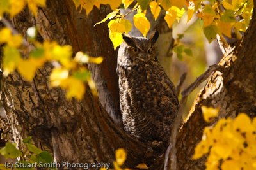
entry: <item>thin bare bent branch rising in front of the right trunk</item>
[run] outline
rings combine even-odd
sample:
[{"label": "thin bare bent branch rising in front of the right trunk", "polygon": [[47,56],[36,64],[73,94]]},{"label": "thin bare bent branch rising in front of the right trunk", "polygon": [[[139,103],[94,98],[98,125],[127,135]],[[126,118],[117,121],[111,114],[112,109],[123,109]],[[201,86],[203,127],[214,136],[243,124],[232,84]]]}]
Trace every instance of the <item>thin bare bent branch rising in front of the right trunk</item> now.
[{"label": "thin bare bent branch rising in front of the right trunk", "polygon": [[[175,117],[175,120],[174,120],[174,124],[173,124],[173,128],[172,128],[172,135],[171,135],[171,138],[170,138],[170,145],[173,146],[173,147],[171,146],[171,151],[170,151],[170,161],[171,161],[171,169],[172,170],[177,169],[176,139],[177,139],[177,133],[178,133],[179,127],[180,127],[182,114],[184,112],[184,108],[185,108],[185,105],[186,105],[186,102],[187,102],[187,99],[188,99],[188,95],[193,90],[195,90],[196,87],[198,87],[200,85],[200,83],[205,81],[212,74],[213,71],[216,71],[216,70],[223,73],[223,67],[218,66],[217,64],[214,64],[214,65],[210,66],[209,69],[207,69],[207,71],[205,71],[205,73],[203,73],[201,76],[196,78],[195,82],[192,83],[191,85],[189,85],[189,87],[187,87],[181,93],[182,94],[182,99],[181,99],[180,104],[179,104],[179,110],[178,110],[177,116]],[[166,153],[166,154],[168,155],[168,153]],[[168,162],[164,162],[164,167],[166,167],[167,164],[168,164]]]}]

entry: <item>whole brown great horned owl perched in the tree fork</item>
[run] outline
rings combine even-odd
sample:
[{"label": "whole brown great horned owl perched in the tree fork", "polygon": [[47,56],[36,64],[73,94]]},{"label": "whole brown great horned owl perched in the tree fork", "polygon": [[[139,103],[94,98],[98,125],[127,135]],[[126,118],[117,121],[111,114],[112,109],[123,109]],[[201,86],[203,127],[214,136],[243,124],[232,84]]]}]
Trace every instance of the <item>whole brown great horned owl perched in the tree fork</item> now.
[{"label": "whole brown great horned owl perched in the tree fork", "polygon": [[179,101],[157,60],[158,36],[157,31],[149,38],[123,34],[117,73],[125,132],[167,146]]}]

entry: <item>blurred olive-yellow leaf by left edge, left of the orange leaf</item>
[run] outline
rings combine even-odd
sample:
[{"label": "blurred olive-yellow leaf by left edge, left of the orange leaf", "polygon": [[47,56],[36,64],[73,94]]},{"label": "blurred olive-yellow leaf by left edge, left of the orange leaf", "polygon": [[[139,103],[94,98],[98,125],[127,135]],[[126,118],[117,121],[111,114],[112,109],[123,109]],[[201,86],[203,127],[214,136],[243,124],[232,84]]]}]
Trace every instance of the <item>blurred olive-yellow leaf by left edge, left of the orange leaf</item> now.
[{"label": "blurred olive-yellow leaf by left edge, left of the orange leaf", "polygon": [[3,74],[7,76],[19,66],[21,60],[20,52],[17,48],[5,46],[3,57]]}]

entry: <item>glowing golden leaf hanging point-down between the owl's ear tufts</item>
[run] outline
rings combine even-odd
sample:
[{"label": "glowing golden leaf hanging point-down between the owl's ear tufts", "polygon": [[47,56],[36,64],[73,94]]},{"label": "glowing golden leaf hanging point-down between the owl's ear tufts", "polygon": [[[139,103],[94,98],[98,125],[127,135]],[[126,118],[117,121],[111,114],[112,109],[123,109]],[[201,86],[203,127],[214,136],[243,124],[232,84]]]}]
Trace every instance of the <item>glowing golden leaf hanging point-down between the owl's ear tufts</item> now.
[{"label": "glowing golden leaf hanging point-down between the owl's ear tufts", "polygon": [[137,13],[134,15],[133,22],[135,27],[143,34],[143,36],[147,36],[150,29],[150,22],[146,18],[145,13]]}]

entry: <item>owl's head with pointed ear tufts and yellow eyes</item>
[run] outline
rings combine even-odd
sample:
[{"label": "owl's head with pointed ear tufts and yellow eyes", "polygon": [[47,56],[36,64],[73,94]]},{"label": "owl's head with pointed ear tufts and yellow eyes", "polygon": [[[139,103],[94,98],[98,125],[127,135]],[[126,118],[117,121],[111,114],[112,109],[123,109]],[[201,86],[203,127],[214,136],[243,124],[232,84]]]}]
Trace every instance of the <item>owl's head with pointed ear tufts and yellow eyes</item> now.
[{"label": "owl's head with pointed ear tufts and yellow eyes", "polygon": [[[148,38],[132,37],[128,34],[122,34],[124,42],[120,45],[118,51],[118,64],[127,60],[131,64],[149,63],[157,61],[156,41],[159,36],[158,31],[152,32]],[[123,63],[124,64],[124,63]]]}]

